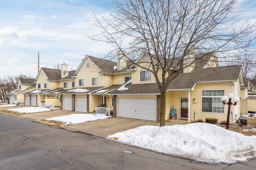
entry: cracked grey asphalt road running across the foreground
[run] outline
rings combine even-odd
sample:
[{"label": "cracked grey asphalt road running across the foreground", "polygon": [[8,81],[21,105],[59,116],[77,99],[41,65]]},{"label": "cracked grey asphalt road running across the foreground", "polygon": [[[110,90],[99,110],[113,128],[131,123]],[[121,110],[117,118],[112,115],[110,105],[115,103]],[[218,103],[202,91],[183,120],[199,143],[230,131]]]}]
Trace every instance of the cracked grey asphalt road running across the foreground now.
[{"label": "cracked grey asphalt road running across the foreground", "polygon": [[0,170],[48,169],[255,170],[256,161],[253,159],[230,166],[195,164],[185,159],[0,113]]}]

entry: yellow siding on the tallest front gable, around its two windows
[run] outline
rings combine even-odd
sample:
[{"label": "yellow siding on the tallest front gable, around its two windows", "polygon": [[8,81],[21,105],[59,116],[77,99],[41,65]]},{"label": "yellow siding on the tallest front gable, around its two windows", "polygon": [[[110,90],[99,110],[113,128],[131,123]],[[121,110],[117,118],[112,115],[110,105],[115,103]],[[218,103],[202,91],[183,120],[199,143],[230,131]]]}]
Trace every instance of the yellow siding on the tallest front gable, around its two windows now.
[{"label": "yellow siding on the tallest front gable, around its two windows", "polygon": [[[89,62],[89,68],[86,67],[86,63]],[[77,78],[75,82],[76,88],[79,87],[95,87],[95,86],[103,86],[103,75],[98,74],[100,69],[91,62],[88,58],[83,63],[83,66],[77,73]],[[92,78],[98,77],[98,85],[92,85]],[[84,79],[84,86],[79,86],[79,79]]]}]

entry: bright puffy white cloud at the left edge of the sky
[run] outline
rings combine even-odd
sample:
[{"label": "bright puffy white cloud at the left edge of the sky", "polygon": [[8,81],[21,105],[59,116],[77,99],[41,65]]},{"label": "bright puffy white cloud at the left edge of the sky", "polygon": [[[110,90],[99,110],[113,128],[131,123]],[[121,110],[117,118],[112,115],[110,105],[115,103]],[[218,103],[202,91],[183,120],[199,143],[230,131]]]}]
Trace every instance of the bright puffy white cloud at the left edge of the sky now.
[{"label": "bright puffy white cloud at the left edge of the sky", "polygon": [[26,36],[23,32],[19,31],[17,27],[9,26],[4,29],[0,29],[0,45],[4,41],[19,42],[25,41]]}]

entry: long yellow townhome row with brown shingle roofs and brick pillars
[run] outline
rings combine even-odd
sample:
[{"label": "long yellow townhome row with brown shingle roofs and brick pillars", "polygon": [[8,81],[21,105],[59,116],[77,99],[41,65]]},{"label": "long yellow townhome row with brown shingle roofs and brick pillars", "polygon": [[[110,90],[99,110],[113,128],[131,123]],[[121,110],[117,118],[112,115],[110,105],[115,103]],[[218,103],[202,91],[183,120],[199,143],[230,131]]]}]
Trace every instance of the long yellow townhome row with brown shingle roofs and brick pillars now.
[{"label": "long yellow townhome row with brown shingle roofs and brick pillars", "polygon": [[[201,59],[193,64],[185,60],[184,66],[188,67],[169,85],[166,119],[172,107],[178,119],[188,122],[226,120],[228,108],[221,96],[233,93],[241,97],[232,107],[230,122],[234,123],[248,108],[248,82],[241,66],[220,67],[215,54],[197,57]],[[131,62],[117,52],[117,62],[113,62],[87,55],[76,70],[68,71],[67,64],[62,64],[61,69],[41,68],[34,80],[35,89],[22,94],[30,106],[54,103],[63,110],[92,113],[96,106],[105,104],[117,117],[159,121],[160,90],[156,80],[150,71],[133,63],[147,66],[149,59],[141,54]]]}]

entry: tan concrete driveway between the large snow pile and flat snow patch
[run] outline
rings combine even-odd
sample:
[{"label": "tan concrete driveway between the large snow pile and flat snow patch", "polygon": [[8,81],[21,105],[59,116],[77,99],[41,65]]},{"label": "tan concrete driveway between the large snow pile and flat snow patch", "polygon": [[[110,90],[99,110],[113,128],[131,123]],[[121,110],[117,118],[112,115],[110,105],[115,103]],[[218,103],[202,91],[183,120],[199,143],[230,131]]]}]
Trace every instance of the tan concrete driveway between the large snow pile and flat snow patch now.
[{"label": "tan concrete driveway between the large snow pile and flat snow patch", "polygon": [[[184,122],[167,122],[167,126],[174,124],[186,124]],[[112,117],[109,119],[103,119],[92,122],[85,122],[81,124],[71,125],[65,127],[66,129],[75,128],[76,130],[98,137],[107,137],[108,135],[115,134],[117,132],[126,131],[129,129],[137,128],[144,125],[159,126],[159,123],[154,121],[146,121],[141,119],[131,119],[125,117]],[[70,129],[71,130],[71,129]]]}]

